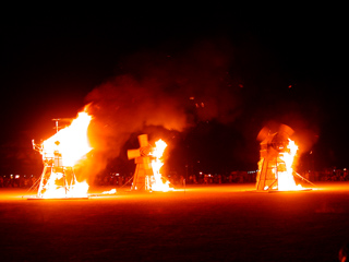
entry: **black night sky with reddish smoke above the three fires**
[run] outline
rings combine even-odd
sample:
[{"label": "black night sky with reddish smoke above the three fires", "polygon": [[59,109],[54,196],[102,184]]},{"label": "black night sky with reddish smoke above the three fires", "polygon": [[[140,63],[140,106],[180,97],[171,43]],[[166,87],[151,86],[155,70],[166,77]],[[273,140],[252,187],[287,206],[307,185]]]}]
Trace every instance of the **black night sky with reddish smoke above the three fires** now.
[{"label": "black night sky with reddish smoke above the three fires", "polygon": [[5,20],[0,170],[37,172],[32,139],[47,139],[52,118],[76,117],[88,103],[95,128],[108,129],[95,130],[96,143],[113,146],[97,150],[117,169],[142,132],[168,139],[172,166],[255,169],[256,135],[269,121],[296,131],[303,168],[348,167],[348,21],[330,12]]}]

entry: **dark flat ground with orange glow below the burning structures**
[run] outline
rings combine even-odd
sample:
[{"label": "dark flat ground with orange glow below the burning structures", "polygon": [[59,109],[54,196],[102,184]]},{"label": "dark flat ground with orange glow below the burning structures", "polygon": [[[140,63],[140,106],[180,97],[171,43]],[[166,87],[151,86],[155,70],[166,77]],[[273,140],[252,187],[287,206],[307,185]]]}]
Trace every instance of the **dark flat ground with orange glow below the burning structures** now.
[{"label": "dark flat ground with orange glow below the burning structures", "polygon": [[349,183],[317,187],[192,186],[69,201],[0,189],[0,260],[337,261],[349,240]]}]

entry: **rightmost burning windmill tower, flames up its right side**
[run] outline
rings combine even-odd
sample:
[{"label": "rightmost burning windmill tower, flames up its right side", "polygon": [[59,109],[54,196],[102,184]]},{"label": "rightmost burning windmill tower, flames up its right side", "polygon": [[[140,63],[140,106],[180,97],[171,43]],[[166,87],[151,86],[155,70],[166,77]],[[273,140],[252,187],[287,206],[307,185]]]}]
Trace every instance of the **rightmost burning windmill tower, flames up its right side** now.
[{"label": "rightmost burning windmill tower, flames up its right side", "polygon": [[261,141],[261,159],[256,181],[257,191],[300,190],[296,184],[292,169],[293,159],[298,151],[294,141],[290,139],[293,130],[280,124],[277,132],[263,128],[257,140]]}]

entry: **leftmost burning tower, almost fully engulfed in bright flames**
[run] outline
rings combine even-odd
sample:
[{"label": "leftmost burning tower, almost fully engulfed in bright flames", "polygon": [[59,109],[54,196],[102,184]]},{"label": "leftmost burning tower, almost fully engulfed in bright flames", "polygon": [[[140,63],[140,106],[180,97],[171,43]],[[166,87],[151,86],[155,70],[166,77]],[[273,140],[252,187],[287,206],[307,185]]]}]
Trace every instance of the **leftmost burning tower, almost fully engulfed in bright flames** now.
[{"label": "leftmost burning tower, almost fully engulfed in bright flames", "polygon": [[88,144],[87,128],[92,117],[83,111],[72,123],[40,144],[33,141],[33,148],[43,155],[44,170],[40,177],[37,198],[64,199],[87,198],[87,182],[79,182],[74,165],[92,147]]}]

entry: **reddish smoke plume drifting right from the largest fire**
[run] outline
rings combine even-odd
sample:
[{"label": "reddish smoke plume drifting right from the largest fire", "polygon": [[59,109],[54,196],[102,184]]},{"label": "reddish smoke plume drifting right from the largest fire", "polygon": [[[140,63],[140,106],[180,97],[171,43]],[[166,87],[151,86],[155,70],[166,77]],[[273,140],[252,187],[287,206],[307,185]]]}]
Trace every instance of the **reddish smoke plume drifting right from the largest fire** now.
[{"label": "reddish smoke plume drifting right from the largest fire", "polygon": [[229,74],[225,43],[179,52],[144,51],[125,59],[117,76],[87,97],[91,136],[105,158],[120,155],[132,133],[149,126],[183,131],[200,121],[232,121],[239,85]]}]

